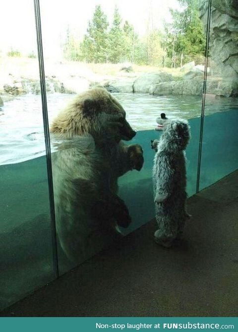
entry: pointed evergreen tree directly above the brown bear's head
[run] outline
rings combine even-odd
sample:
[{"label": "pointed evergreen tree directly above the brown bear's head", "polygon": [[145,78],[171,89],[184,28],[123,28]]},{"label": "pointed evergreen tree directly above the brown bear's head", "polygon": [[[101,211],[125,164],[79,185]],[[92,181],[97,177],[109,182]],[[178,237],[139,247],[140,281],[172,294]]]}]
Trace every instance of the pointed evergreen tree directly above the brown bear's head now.
[{"label": "pointed evergreen tree directly above the brown bear's head", "polygon": [[100,5],[96,5],[92,22],[89,21],[81,52],[87,62],[105,63],[108,61],[108,20]]}]

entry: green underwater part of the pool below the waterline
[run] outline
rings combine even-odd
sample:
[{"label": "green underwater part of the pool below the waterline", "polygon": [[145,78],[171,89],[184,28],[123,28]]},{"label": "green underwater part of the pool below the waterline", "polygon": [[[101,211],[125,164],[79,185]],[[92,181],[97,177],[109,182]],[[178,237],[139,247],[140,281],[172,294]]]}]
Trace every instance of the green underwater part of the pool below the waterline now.
[{"label": "green underwater part of the pool below the waterline", "polygon": [[[187,192],[195,193],[200,119],[189,120],[192,138],[186,150]],[[238,112],[216,113],[204,119],[200,189],[238,168]],[[145,163],[119,179],[132,223],[125,234],[154,217],[151,172],[155,131],[140,131]],[[45,156],[0,166],[0,308],[54,279],[52,234]],[[196,216],[193,216],[194,219]],[[59,264],[63,263],[59,260]],[[61,266],[61,271],[65,267]]]}]

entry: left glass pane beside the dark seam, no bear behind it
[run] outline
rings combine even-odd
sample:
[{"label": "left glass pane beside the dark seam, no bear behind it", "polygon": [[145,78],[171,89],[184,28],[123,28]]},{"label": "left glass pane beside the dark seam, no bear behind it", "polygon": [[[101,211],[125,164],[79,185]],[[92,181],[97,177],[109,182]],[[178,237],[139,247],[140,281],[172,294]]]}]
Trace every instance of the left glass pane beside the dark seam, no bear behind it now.
[{"label": "left glass pane beside the dark seam, no bear behind it", "polygon": [[55,275],[33,1],[1,1],[0,12],[2,309]]}]

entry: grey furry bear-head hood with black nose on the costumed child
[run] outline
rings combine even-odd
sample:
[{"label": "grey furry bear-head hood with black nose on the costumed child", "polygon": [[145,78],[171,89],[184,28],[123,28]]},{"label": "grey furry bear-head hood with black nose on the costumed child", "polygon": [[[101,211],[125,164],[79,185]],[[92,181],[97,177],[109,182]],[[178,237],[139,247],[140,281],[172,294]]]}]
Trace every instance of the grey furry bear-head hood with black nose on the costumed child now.
[{"label": "grey furry bear-head hood with black nose on the costumed child", "polygon": [[165,113],[156,119],[158,126],[156,131],[163,131],[160,146],[164,144],[165,149],[185,150],[190,139],[190,127],[186,120],[168,119]]}]

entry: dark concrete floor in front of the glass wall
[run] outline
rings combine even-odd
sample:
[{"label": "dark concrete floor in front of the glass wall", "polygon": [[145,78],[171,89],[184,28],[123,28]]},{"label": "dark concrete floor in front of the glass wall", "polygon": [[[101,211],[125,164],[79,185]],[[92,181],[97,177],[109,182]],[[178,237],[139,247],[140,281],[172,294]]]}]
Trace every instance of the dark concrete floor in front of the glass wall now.
[{"label": "dark concrete floor in front of the glass wall", "polygon": [[238,316],[238,172],[188,199],[180,247],[152,221],[0,316]]}]

